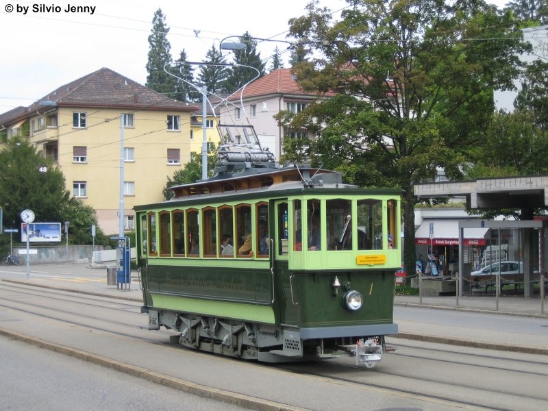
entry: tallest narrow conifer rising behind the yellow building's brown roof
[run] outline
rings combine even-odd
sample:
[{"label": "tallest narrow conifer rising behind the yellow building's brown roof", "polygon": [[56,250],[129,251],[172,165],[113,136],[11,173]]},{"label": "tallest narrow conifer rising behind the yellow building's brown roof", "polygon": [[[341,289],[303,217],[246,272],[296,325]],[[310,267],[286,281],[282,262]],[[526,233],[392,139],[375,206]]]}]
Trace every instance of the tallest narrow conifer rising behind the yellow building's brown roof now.
[{"label": "tallest narrow conifer rising behind the yellow building's brown roof", "polygon": [[174,77],[164,71],[164,66],[172,64],[171,45],[167,39],[169,27],[162,9],[156,10],[152,19],[152,29],[149,36],[149,60],[147,61],[147,84],[152,90],[171,95],[175,92]]}]

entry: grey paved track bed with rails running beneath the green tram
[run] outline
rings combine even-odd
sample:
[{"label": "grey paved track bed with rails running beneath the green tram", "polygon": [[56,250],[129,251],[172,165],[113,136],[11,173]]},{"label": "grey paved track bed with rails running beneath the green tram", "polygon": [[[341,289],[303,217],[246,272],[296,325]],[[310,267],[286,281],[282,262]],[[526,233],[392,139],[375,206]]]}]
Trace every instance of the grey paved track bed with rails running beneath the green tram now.
[{"label": "grey paved track bed with rails running beneath the green tram", "polygon": [[[169,341],[169,338],[164,338],[170,334],[169,331],[164,331],[164,336],[154,333],[158,336],[154,339],[143,335],[142,331],[147,332],[146,328],[134,325],[144,319],[144,316],[136,311],[138,303],[128,301],[120,303],[120,301],[113,301],[110,297],[75,296],[70,295],[70,292],[51,292],[51,290],[42,292],[34,288],[6,287],[4,284],[1,284],[0,290],[13,291],[18,295],[18,297],[11,297],[3,293],[0,307],[9,310],[39,316],[49,321],[61,321],[69,326],[85,327],[123,338],[142,340],[165,348],[181,349],[179,346],[162,341],[162,339]],[[40,299],[47,299],[49,302],[40,301]],[[74,304],[73,312],[69,313],[69,316],[66,309],[61,307],[62,304]],[[89,314],[87,310],[101,312],[101,314]],[[126,317],[124,321],[110,318],[121,313]],[[0,312],[0,320],[1,314]],[[140,318],[134,314],[138,314]],[[492,351],[482,352],[487,350],[463,347],[451,347],[451,350],[445,350],[436,346],[438,345],[417,347],[398,344],[398,351],[384,356],[381,364],[372,370],[353,366],[350,364],[351,360],[345,361],[348,359],[312,364],[276,365],[275,368],[290,373],[330,379],[335,383],[393,390],[432,401],[447,401],[453,406],[462,408],[521,410],[523,407],[517,405],[521,403],[527,404],[527,410],[546,409],[548,397],[545,393],[535,388],[525,388],[534,379],[541,380],[547,376],[547,372],[542,370],[542,367],[547,364],[545,358],[542,362],[543,357],[527,354],[508,353],[508,356],[505,354],[494,356]],[[194,351],[188,352],[194,353]],[[199,354],[207,356],[203,353]],[[184,353],[181,355],[184,356]],[[253,364],[253,366],[264,365]],[[486,375],[484,378],[490,379],[491,383],[478,384],[480,379],[474,376],[479,373]],[[514,386],[509,386],[509,381],[513,382]]]}]

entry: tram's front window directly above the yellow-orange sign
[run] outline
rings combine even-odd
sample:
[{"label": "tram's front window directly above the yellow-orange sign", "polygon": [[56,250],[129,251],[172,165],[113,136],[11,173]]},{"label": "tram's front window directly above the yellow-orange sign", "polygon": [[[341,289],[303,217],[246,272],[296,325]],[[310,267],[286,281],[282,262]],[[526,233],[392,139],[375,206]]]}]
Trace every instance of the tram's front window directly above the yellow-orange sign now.
[{"label": "tram's front window directly above the yellow-orange sign", "polygon": [[382,249],[382,201],[358,200],[358,250]]}]

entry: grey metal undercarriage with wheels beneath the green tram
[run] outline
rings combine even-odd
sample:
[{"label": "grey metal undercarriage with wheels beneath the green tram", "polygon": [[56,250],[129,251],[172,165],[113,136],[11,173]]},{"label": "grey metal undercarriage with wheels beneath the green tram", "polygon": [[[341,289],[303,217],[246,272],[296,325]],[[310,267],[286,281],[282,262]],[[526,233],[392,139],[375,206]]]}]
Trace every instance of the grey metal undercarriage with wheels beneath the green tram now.
[{"label": "grey metal undercarriage with wheels beneath the green tram", "polygon": [[373,368],[386,351],[384,336],[302,340],[298,328],[143,309],[149,314],[149,329],[163,325],[181,333],[171,336],[172,343],[243,360],[301,362],[346,356]]}]

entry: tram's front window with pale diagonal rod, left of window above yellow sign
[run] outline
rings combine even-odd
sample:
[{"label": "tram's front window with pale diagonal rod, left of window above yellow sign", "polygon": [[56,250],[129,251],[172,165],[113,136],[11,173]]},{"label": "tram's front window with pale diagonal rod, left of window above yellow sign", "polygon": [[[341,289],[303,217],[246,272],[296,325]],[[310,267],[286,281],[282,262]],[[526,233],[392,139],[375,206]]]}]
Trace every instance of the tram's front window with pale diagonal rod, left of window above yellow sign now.
[{"label": "tram's front window with pale diagonal rod, left of window above yellow sign", "polygon": [[327,200],[327,249],[352,249],[352,202]]}]

